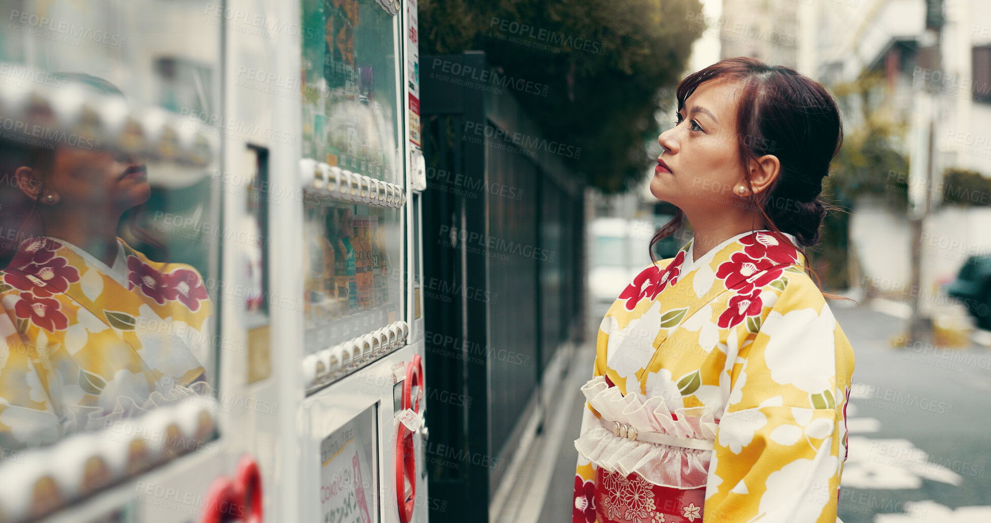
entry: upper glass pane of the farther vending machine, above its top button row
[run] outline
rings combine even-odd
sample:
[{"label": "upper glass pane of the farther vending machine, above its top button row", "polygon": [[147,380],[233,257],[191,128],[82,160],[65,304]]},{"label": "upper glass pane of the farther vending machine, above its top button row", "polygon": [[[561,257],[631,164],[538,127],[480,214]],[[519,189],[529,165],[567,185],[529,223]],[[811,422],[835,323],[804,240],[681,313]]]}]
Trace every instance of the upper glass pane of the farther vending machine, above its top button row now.
[{"label": "upper glass pane of the farther vending machine, above its top button row", "polygon": [[302,17],[303,157],[401,184],[395,17],[375,0],[303,0]]}]

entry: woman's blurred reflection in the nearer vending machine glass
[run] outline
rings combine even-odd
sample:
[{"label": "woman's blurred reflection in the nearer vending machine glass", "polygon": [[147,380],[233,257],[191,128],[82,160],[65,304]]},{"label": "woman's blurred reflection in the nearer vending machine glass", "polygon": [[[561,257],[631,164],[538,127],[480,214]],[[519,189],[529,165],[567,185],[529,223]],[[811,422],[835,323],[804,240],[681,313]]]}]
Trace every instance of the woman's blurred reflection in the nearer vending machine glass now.
[{"label": "woman's blurred reflection in the nearer vending machine glass", "polygon": [[34,237],[7,245],[16,252],[0,271],[0,446],[102,427],[204,381],[212,306],[199,273],[117,237],[124,212],[151,194],[145,166],[64,144],[2,160]]}]

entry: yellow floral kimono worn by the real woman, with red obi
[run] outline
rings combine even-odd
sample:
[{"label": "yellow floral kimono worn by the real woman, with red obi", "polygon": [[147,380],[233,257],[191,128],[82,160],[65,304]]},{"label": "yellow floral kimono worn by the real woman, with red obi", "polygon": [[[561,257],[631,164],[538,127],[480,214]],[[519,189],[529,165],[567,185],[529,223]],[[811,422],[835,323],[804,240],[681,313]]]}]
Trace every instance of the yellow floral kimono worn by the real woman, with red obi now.
[{"label": "yellow floral kimono worn by the real woman, with red obi", "polygon": [[692,244],[600,326],[573,522],[833,523],[849,341],[784,235]]}]

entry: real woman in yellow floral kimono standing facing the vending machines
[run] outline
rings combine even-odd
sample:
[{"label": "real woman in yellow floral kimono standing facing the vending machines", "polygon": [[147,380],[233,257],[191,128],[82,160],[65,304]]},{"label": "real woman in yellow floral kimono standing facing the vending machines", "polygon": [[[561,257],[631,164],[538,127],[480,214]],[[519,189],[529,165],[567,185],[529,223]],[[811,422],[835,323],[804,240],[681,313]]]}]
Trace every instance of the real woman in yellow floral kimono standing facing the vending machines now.
[{"label": "real woman in yellow floral kimono standing facing the vending machines", "polygon": [[575,441],[573,521],[833,523],[853,353],[807,274],[842,141],[834,100],[783,66],[685,77],[651,193],[694,237],[606,313]]}]

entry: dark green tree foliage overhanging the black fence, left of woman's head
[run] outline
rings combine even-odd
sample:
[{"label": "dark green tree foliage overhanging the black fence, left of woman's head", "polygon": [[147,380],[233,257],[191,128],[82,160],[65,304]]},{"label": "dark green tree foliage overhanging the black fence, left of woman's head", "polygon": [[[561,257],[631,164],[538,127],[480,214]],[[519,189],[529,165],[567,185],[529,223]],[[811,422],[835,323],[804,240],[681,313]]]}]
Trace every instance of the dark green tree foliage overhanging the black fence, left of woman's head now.
[{"label": "dark green tree foliage overhanging the black fence, left of woman's head", "polygon": [[546,96],[514,94],[546,138],[582,148],[564,161],[611,194],[652,163],[645,138],[686,72],[699,28],[685,22],[701,10],[699,0],[421,0],[420,55],[481,50],[495,70],[548,85]]}]

